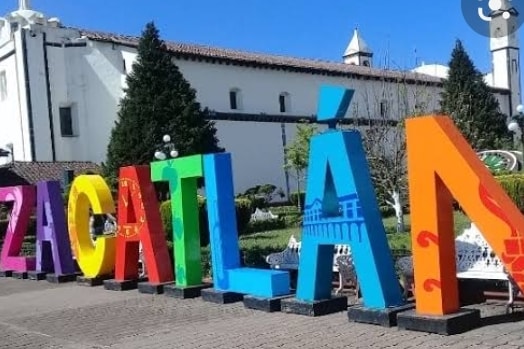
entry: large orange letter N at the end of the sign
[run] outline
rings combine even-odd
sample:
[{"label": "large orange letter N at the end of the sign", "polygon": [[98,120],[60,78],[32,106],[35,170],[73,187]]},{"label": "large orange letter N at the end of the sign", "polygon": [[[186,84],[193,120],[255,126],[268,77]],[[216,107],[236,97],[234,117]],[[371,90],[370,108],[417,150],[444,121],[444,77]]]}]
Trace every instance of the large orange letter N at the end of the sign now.
[{"label": "large orange letter N at the end of the sign", "polygon": [[416,311],[459,310],[453,197],[524,289],[524,217],[446,116],[406,121]]}]

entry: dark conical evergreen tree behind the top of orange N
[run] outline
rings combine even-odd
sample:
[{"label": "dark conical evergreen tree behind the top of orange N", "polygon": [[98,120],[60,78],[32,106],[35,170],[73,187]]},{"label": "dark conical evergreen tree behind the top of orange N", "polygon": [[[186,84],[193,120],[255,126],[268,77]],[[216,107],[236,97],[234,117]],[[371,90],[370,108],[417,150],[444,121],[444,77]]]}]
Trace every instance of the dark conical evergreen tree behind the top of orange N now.
[{"label": "dark conical evergreen tree behind the top of orange N", "polygon": [[449,115],[476,151],[508,145],[511,135],[506,116],[482,73],[475,68],[462,42],[451,53],[449,75],[441,93],[441,112]]}]

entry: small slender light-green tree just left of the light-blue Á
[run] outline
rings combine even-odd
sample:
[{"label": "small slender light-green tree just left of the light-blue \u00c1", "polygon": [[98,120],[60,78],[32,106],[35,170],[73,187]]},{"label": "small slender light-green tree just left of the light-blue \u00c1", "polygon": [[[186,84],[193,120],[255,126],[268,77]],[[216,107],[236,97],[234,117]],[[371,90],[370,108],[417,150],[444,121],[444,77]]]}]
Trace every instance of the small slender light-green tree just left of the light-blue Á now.
[{"label": "small slender light-green tree just left of the light-blue \u00c1", "polygon": [[316,125],[301,123],[297,125],[295,139],[286,147],[286,170],[293,170],[297,180],[298,208],[300,209],[301,183],[305,181],[305,170],[309,164],[309,141],[318,132]]}]

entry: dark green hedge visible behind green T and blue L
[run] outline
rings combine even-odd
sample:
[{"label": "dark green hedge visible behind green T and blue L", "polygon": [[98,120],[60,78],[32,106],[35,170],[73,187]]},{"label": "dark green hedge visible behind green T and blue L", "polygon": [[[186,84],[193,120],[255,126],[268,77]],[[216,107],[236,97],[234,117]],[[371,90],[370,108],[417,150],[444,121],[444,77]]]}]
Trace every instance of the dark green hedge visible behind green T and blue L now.
[{"label": "dark green hedge visible behind green T and blue L", "polygon": [[[249,220],[251,219],[251,201],[248,199],[235,199],[238,234],[249,233]],[[200,245],[209,244],[209,225],[207,220],[207,207],[205,198],[198,198]],[[171,220],[171,201],[164,201],[160,205],[162,225],[166,234],[166,240],[173,241],[173,223]]]}]

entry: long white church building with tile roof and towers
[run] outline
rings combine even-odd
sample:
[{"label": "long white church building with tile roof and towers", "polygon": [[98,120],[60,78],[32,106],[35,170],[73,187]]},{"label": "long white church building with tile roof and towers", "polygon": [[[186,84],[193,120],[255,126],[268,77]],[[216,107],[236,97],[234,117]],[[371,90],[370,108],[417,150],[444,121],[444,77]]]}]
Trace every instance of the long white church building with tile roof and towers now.
[{"label": "long white church building with tile roof and towers", "polygon": [[[494,32],[516,20],[492,19]],[[0,148],[15,161],[104,161],[138,40],[69,27],[20,0],[18,10],[0,18]],[[490,46],[486,81],[511,115],[521,103],[517,35],[494,37]],[[266,183],[296,190],[283,168],[284,148],[297,122],[315,121],[321,85],[355,90],[343,124],[365,131],[373,120],[438,109],[447,74],[440,65],[376,68],[358,30],[339,62],[169,41],[166,49],[212,111],[220,146],[232,154],[237,193]],[[170,136],[176,146],[177,135]]]}]

